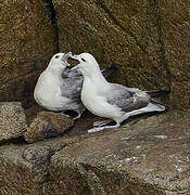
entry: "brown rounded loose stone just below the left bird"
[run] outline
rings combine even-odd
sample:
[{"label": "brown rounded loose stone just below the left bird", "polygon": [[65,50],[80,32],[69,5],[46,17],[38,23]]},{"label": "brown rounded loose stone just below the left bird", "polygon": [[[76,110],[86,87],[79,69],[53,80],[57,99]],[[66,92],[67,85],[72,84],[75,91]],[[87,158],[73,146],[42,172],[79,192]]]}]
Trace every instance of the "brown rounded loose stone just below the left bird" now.
[{"label": "brown rounded loose stone just below the left bird", "polygon": [[59,113],[40,112],[27,128],[24,136],[29,143],[58,136],[74,126],[71,118]]}]

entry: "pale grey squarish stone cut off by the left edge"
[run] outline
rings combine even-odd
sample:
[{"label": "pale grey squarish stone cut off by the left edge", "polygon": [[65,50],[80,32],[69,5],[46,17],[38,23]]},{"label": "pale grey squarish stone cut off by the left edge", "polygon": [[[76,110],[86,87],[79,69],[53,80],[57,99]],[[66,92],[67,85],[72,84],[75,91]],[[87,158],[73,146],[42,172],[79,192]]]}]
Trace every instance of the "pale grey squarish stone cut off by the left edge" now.
[{"label": "pale grey squarish stone cut off by the left edge", "polygon": [[23,135],[27,129],[26,116],[20,102],[0,103],[0,141]]}]

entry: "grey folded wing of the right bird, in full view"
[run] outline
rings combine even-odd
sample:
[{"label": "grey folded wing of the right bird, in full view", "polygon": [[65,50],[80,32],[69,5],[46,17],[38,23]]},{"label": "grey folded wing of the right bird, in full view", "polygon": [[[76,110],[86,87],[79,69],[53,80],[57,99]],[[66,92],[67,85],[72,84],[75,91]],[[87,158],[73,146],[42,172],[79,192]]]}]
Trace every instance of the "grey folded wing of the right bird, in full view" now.
[{"label": "grey folded wing of the right bird, in full view", "polygon": [[112,83],[111,92],[106,95],[107,103],[121,107],[126,113],[145,107],[149,104],[149,95],[138,96],[136,92],[131,92],[122,84]]}]

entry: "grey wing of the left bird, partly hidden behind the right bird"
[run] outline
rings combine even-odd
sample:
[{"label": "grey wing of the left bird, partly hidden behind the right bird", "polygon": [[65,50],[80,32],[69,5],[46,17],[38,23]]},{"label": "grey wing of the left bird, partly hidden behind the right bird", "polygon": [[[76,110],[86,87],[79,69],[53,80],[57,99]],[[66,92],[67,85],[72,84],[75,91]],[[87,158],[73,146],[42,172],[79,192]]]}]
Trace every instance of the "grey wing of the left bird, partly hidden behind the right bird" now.
[{"label": "grey wing of the left bird, partly hidden behind the right bird", "polygon": [[83,80],[83,77],[64,79],[64,83],[61,86],[62,95],[72,100],[78,100],[80,98]]}]

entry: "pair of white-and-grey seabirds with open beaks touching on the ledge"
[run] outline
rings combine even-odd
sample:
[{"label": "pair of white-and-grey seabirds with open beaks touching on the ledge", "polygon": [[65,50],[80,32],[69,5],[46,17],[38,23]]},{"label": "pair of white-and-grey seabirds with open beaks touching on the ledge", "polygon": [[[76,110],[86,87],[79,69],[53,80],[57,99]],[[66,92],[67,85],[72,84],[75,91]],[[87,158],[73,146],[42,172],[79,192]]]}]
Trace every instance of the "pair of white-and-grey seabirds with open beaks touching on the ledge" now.
[{"label": "pair of white-and-grey seabirds with open beaks touching on the ledge", "polygon": [[[77,60],[79,64],[66,69],[69,66],[68,57]],[[121,122],[130,116],[165,110],[164,104],[153,99],[165,91],[141,91],[111,83],[106,81],[103,73],[106,73],[106,69],[100,70],[98,62],[89,53],[55,54],[38,79],[35,100],[49,110],[64,113],[73,109],[78,113],[76,118],[80,117],[85,107],[97,116],[109,118],[93,122],[93,128],[88,132],[118,128]],[[111,121],[116,125],[109,126]]]}]

